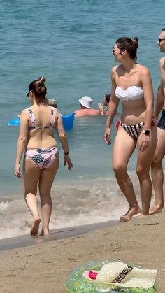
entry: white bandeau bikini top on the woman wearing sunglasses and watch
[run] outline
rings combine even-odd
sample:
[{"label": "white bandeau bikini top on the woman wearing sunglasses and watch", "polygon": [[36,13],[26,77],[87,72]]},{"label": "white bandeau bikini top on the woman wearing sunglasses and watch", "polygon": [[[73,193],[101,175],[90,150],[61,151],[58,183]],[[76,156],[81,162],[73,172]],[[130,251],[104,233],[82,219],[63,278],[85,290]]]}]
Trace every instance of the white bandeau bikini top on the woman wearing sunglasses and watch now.
[{"label": "white bandeau bikini top on the woman wearing sunglasses and watch", "polygon": [[131,87],[127,87],[126,90],[123,90],[122,87],[117,86],[115,89],[115,95],[121,101],[136,101],[143,98],[143,88],[131,85]]}]

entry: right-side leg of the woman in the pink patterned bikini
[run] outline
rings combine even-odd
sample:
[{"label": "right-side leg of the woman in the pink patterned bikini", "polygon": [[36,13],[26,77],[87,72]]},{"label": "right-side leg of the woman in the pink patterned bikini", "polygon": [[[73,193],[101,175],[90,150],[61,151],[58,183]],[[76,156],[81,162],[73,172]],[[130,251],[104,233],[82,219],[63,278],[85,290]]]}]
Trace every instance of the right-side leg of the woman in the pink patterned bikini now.
[{"label": "right-side leg of the woman in the pink patterned bikini", "polygon": [[57,158],[49,168],[41,170],[41,177],[39,180],[39,193],[41,199],[41,213],[43,220],[41,235],[49,234],[49,222],[52,213],[52,199],[50,196],[50,190],[58,168],[59,158]]}]

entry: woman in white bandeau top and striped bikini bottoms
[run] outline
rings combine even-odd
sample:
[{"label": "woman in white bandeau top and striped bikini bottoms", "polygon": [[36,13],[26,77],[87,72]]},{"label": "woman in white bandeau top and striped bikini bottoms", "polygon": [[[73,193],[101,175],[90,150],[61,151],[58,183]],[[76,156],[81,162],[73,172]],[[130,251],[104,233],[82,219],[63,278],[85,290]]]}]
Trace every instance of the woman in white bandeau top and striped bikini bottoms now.
[{"label": "woman in white bandeau top and striped bikini bottoms", "polygon": [[[119,101],[122,101],[121,123],[113,147],[113,169],[117,183],[129,203],[129,210],[120,217],[121,222],[131,220],[135,214],[149,214],[152,195],[150,166],[157,145],[157,124],[153,118],[152,80],[148,69],[136,62],[138,38],[119,38],[113,55],[120,64],[112,69],[112,91],[104,141],[110,144],[110,127]],[[141,208],[136,200],[131,178],[127,173],[129,159],[137,148],[136,173],[141,187]]]}]

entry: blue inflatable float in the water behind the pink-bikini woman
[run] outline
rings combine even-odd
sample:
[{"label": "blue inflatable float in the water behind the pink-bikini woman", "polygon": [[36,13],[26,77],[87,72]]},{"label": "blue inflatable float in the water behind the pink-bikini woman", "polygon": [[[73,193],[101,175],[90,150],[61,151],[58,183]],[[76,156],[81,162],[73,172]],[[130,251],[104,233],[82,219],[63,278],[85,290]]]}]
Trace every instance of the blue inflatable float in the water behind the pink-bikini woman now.
[{"label": "blue inflatable float in the water behind the pink-bikini woman", "polygon": [[[71,113],[66,116],[62,116],[62,122],[65,130],[72,129],[73,128],[73,122],[74,122],[74,113]],[[19,126],[20,125],[20,118],[17,117],[13,120],[10,120],[8,122],[8,126]]]}]

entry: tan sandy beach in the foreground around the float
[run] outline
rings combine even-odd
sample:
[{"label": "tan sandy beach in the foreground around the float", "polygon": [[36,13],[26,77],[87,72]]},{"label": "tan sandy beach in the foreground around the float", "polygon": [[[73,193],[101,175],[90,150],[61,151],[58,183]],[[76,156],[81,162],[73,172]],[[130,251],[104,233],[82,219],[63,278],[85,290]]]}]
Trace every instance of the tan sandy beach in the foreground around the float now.
[{"label": "tan sandy beach in the foreground around the float", "polygon": [[[157,292],[164,293],[164,217],[164,213],[159,213],[111,227],[107,227],[108,223],[94,225],[93,231],[66,229],[58,238],[51,234],[54,238],[51,241],[43,242],[38,237],[35,245],[30,240],[28,243],[26,236],[28,246],[10,250],[5,250],[4,240],[0,252],[0,292],[64,293],[66,279],[76,266],[96,259],[120,259],[143,269],[157,269]],[[19,243],[19,238],[16,242]]]}]

